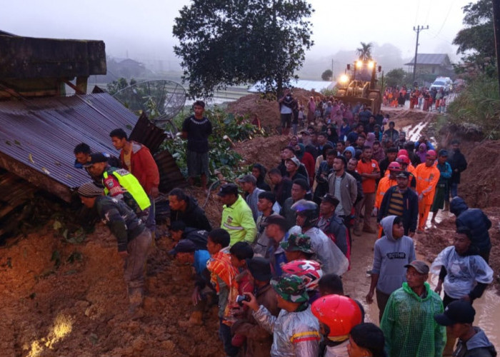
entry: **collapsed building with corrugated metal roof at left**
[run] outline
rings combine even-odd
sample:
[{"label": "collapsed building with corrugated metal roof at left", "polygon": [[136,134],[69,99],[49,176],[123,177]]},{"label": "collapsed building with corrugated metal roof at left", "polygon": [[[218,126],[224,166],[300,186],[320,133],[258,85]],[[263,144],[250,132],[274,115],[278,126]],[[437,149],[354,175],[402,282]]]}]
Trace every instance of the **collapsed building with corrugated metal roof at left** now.
[{"label": "collapsed building with corrugated metal roof at left", "polygon": [[[86,171],[74,167],[74,146],[118,156],[109,138],[116,128],[149,148],[159,166],[161,192],[186,181],[164,131],[137,116],[89,76],[106,74],[104,41],[37,39],[0,31],[0,237],[9,215],[45,191],[70,202]],[[74,94],[68,94],[70,89]]]}]

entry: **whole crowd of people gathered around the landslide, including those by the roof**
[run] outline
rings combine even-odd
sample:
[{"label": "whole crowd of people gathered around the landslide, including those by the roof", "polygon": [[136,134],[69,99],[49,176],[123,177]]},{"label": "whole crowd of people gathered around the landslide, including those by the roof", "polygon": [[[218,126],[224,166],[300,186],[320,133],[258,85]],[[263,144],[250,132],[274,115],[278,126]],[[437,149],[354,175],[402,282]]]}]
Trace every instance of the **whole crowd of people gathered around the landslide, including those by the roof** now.
[{"label": "whole crowd of people gathered around the landslide, including those by the roof", "polygon": [[[279,103],[293,101],[291,96]],[[441,356],[451,354],[456,338],[454,356],[496,356],[484,331],[473,326],[472,307],[493,280],[491,221],[457,196],[466,169],[458,141],[451,154],[436,152],[425,136],[406,141],[389,115],[373,115],[363,105],[331,106],[336,119],[320,114],[290,136],[278,166],[254,163],[251,173],[221,184],[220,222],[209,222],[181,188],[169,192],[169,254],[194,268],[193,310],[179,325],[203,325],[206,311],[217,305],[227,356]],[[281,114],[290,128],[294,110]],[[204,103],[196,101],[182,129],[191,151],[190,181],[205,176],[204,188],[209,123]],[[121,150],[122,169],[105,154],[86,150],[84,157],[75,149],[76,165],[93,180],[79,195],[117,238],[136,317],[154,231],[157,168],[145,167],[151,154],[124,132],[110,136]],[[137,161],[144,166],[134,173]],[[416,259],[414,237],[426,229],[430,211],[445,208],[449,192],[454,244],[429,266]],[[375,241],[366,303],[376,296],[380,328],[364,321],[363,305],[342,285],[356,248],[353,235],[363,231]],[[439,275],[435,291],[427,283],[429,272]]]}]

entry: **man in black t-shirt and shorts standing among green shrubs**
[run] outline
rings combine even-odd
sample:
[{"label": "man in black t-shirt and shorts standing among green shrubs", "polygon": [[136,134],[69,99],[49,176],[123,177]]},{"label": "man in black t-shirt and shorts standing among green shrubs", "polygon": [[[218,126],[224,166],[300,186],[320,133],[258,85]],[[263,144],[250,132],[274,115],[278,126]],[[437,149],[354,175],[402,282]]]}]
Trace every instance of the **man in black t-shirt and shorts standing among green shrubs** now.
[{"label": "man in black t-shirt and shorts standing among green shrubs", "polygon": [[201,188],[206,191],[206,179],[209,176],[209,136],[212,134],[212,124],[204,116],[205,102],[195,101],[194,115],[182,123],[182,137],[187,139],[187,166],[189,184],[194,185],[194,178],[199,176]]}]

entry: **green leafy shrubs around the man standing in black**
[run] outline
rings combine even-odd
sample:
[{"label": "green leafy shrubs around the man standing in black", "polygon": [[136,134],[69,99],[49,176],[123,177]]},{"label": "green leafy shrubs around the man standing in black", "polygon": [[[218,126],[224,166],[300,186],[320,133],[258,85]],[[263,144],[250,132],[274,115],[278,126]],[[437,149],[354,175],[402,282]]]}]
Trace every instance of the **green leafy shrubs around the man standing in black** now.
[{"label": "green leafy shrubs around the man standing in black", "polygon": [[[176,116],[176,121],[179,123],[181,116]],[[240,154],[231,149],[229,140],[224,139],[227,136],[234,143],[253,139],[254,136],[266,135],[263,129],[259,129],[249,122],[247,116],[234,116],[227,113],[224,109],[216,106],[214,109],[206,109],[204,114],[212,124],[212,135],[209,137],[209,170],[211,179],[216,178],[216,171],[220,171],[229,180],[234,180],[241,174],[245,174],[248,170],[243,166],[243,159]],[[181,127],[181,122],[179,123]],[[175,136],[171,140],[164,141],[164,148],[174,156],[177,166],[181,169],[184,176],[187,176],[186,164],[186,145],[187,141],[181,139],[180,136]]]}]

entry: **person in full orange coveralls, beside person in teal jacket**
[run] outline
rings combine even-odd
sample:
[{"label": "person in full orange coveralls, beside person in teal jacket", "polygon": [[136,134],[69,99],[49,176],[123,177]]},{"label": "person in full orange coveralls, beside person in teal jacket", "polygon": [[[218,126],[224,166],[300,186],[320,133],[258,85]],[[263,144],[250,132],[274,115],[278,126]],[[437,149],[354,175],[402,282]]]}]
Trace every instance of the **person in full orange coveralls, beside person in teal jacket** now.
[{"label": "person in full orange coveralls, beside person in teal jacket", "polygon": [[427,151],[425,162],[416,166],[415,169],[416,193],[419,195],[419,226],[416,233],[424,233],[427,217],[434,201],[440,175],[439,169],[434,165],[436,156],[436,151]]}]

